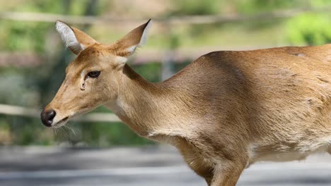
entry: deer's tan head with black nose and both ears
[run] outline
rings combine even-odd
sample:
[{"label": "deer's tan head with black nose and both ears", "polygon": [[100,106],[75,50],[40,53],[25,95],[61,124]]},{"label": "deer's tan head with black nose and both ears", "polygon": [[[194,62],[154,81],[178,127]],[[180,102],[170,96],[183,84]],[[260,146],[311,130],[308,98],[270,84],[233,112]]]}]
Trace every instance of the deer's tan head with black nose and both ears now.
[{"label": "deer's tan head with black nose and both ears", "polygon": [[42,123],[58,128],[74,116],[115,101],[127,57],[144,44],[150,26],[151,20],[114,44],[106,45],[57,21],[57,32],[77,57],[66,68],[66,77],[54,99],[40,114]]}]

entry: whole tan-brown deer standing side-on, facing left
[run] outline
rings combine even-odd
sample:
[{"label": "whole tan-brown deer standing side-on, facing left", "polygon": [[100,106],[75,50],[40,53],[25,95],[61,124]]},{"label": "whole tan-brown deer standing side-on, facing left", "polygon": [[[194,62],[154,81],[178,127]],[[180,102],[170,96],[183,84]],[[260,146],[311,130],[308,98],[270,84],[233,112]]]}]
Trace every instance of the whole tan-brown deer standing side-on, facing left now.
[{"label": "whole tan-brown deer standing side-on, facing left", "polygon": [[141,137],[177,147],[209,186],[236,185],[257,161],[331,154],[331,45],[213,51],[163,82],[127,65],[151,20],[113,44],[57,21],[77,57],[41,113],[59,128],[105,105]]}]

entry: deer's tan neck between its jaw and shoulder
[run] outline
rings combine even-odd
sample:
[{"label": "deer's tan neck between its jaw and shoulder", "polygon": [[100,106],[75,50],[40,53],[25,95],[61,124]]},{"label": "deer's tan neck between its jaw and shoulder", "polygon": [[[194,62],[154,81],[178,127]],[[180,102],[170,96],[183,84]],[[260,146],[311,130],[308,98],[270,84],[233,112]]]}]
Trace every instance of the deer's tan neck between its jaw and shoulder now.
[{"label": "deer's tan neck between its jaw and shoulder", "polygon": [[178,109],[169,87],[147,82],[127,65],[120,82],[116,101],[105,106],[139,135],[146,137],[176,119],[171,118]]}]

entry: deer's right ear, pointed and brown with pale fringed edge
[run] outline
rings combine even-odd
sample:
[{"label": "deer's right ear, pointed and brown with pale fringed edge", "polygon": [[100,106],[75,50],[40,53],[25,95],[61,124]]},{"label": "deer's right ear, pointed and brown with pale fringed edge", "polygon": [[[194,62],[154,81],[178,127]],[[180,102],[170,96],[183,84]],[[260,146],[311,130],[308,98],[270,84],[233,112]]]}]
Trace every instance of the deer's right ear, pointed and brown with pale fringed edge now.
[{"label": "deer's right ear, pointed and brown with pale fringed edge", "polygon": [[147,23],[136,27],[129,32],[122,39],[117,40],[112,44],[111,48],[117,56],[127,57],[134,53],[137,47],[143,45],[146,42],[149,28],[151,27],[151,19]]}]

